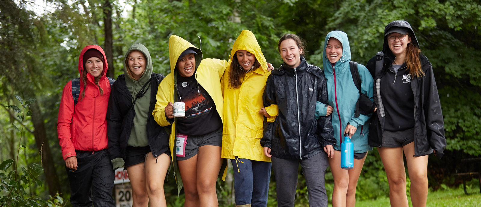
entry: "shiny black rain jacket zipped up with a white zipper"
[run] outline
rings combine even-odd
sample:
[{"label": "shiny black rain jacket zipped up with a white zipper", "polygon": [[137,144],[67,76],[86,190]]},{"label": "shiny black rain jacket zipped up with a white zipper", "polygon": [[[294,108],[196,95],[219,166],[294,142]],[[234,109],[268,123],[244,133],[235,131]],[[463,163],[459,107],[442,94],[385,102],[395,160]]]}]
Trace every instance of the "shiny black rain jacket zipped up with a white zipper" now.
[{"label": "shiny black rain jacket zipped up with a white zipper", "polygon": [[315,118],[316,101],[328,102],[324,72],[301,57],[297,68],[282,64],[267,78],[264,107],[278,105],[278,117],[272,123],[264,119],[263,147],[283,159],[306,159],[334,145],[331,117]]}]

